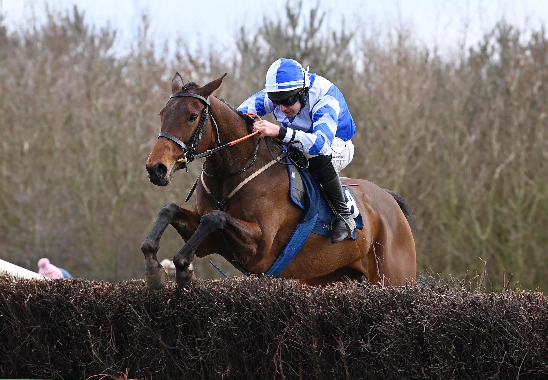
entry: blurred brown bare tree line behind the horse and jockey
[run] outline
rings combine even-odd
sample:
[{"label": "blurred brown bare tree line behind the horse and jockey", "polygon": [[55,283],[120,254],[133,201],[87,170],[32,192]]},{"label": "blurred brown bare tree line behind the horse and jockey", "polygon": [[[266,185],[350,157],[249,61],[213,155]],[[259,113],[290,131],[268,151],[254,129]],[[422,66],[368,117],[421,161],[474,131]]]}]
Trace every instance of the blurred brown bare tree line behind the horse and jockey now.
[{"label": "blurred brown bare tree line behind the horse and jockey", "polygon": [[[412,31],[365,37],[330,30],[326,17],[288,7],[258,29],[242,26],[234,51],[178,41],[175,52],[153,41],[144,17],[124,53],[116,30],[90,25],[76,8],[17,31],[0,21],[0,258],[141,278],[140,243],[165,203],[193,207],[184,198],[200,167],[167,188],[146,175],[173,73],[206,83],[226,71],[217,94],[238,105],[287,57],[345,94],[357,133],[343,174],[408,199],[419,268],[464,277],[481,257],[494,284],[506,268],[526,287],[548,285],[544,29],[524,35],[500,22],[447,58]],[[181,245],[169,228],[159,257]],[[220,276],[205,260],[197,268]]]}]

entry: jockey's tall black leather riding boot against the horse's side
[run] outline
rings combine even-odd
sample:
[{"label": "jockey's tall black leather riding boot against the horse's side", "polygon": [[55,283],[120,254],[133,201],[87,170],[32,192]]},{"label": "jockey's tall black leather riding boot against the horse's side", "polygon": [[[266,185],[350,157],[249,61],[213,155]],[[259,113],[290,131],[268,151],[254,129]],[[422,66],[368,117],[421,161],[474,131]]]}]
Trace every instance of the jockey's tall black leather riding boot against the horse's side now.
[{"label": "jockey's tall black leather riding boot against the horse's side", "polygon": [[331,242],[338,243],[347,237],[352,237],[352,233],[356,229],[356,222],[346,206],[339,172],[331,161],[331,155],[309,158],[309,163],[309,171],[322,185],[323,192],[336,214],[331,229]]}]

